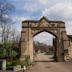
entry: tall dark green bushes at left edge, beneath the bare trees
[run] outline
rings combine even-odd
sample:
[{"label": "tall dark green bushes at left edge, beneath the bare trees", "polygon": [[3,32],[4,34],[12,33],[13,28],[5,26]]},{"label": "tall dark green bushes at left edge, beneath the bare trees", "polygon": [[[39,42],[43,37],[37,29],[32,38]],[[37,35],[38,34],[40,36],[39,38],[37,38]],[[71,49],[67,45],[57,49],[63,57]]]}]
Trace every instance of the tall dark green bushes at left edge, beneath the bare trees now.
[{"label": "tall dark green bushes at left edge, beneath the bare trees", "polygon": [[17,52],[13,50],[13,44],[11,42],[4,42],[0,47],[0,57],[16,57]]}]

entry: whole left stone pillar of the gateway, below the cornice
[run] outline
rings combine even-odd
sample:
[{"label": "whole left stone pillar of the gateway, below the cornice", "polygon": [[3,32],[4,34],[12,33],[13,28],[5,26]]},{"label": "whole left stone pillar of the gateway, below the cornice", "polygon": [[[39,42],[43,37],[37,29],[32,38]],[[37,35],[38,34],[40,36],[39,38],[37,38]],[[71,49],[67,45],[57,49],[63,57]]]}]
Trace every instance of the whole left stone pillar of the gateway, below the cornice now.
[{"label": "whole left stone pillar of the gateway, below the cornice", "polygon": [[24,60],[25,55],[30,56],[33,61],[33,40],[31,35],[31,28],[24,28],[21,38],[21,60]]}]

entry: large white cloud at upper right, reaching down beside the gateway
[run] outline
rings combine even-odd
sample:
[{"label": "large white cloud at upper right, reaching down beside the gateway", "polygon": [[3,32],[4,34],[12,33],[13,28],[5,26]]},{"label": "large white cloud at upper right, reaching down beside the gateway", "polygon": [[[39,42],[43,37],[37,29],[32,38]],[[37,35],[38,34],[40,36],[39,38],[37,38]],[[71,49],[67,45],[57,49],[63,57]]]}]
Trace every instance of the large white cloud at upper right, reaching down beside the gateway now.
[{"label": "large white cloud at upper right, reaching down beside the gateway", "polygon": [[72,4],[57,3],[50,8],[45,8],[42,15],[50,19],[63,20],[66,23],[67,34],[72,34]]}]

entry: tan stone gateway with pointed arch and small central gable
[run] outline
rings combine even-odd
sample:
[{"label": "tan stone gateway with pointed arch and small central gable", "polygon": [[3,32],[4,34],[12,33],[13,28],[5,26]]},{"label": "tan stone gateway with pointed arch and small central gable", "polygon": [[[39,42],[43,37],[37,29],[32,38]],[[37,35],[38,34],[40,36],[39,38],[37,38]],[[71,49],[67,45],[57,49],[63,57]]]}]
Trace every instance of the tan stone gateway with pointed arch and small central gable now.
[{"label": "tan stone gateway with pointed arch and small central gable", "polygon": [[70,45],[65,23],[63,21],[50,21],[46,17],[42,17],[40,20],[25,20],[22,22],[21,60],[24,59],[25,55],[29,55],[31,61],[34,60],[33,37],[43,31],[55,36],[56,61],[64,61],[64,48],[68,48]]}]

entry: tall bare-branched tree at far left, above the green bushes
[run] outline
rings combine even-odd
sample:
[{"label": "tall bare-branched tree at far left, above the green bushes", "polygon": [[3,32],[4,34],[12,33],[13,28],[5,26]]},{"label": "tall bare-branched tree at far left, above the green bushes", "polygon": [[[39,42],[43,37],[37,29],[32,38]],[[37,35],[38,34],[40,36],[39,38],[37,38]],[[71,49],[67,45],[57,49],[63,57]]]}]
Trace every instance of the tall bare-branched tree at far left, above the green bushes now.
[{"label": "tall bare-branched tree at far left, above the green bushes", "polygon": [[0,0],[0,28],[2,42],[6,40],[6,32],[9,31],[7,27],[11,26],[12,19],[9,17],[14,6],[6,0]]}]

